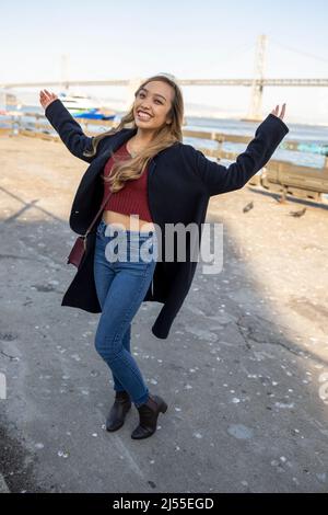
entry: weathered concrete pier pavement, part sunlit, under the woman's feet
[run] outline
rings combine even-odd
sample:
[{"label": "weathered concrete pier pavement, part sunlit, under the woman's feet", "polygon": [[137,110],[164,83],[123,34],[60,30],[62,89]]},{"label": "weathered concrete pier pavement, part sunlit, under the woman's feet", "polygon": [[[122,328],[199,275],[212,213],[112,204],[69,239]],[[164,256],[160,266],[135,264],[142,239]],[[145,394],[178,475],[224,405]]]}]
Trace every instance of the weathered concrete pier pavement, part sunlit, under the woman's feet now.
[{"label": "weathered concrete pier pavement, part sunlit, under the woman's feet", "polygon": [[[112,375],[98,314],[61,307],[71,202],[87,163],[0,138],[0,465],[11,492],[327,492],[328,210],[245,186],[211,198],[223,270],[198,263],[167,340],[143,302],[132,352],[168,404],[133,440],[105,431]],[[253,208],[243,211],[253,202]],[[306,207],[303,216],[290,213]],[[4,396],[5,393],[5,396]]]}]

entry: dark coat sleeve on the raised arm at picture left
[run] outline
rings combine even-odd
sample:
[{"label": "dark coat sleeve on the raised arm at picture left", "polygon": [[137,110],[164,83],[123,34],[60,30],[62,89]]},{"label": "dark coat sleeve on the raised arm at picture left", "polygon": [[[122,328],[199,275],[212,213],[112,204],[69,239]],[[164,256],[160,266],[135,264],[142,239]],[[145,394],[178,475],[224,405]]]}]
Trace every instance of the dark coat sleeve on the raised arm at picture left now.
[{"label": "dark coat sleeve on the raised arm at picture left", "polygon": [[73,156],[89,163],[95,158],[95,156],[83,156],[84,150],[91,150],[92,148],[92,137],[85,136],[81,125],[78,124],[59,99],[56,99],[46,107],[45,116]]}]

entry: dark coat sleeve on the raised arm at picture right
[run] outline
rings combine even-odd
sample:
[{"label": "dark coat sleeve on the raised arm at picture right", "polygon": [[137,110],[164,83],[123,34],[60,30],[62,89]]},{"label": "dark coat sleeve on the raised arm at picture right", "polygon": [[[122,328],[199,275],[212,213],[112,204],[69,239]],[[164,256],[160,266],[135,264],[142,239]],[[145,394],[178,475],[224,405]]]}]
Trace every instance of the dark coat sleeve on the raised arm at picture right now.
[{"label": "dark coat sleeve on the raised arm at picture right", "polygon": [[211,161],[200,150],[194,149],[194,167],[209,196],[243,187],[269,161],[274,150],[289,133],[288,126],[270,113],[258,126],[255,138],[245,152],[229,167]]}]

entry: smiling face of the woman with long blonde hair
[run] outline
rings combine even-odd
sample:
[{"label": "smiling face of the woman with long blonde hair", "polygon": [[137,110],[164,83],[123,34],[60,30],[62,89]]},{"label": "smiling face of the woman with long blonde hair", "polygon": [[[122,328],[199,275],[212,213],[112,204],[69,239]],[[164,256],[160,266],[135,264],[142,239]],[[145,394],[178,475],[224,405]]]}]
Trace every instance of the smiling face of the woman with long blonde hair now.
[{"label": "smiling face of the woman with long blonde hair", "polygon": [[[166,82],[154,80],[141,88],[134,100],[136,125],[142,129],[155,130],[172,119],[167,116],[172,107],[174,90]],[[143,116],[142,113],[147,115]]]}]

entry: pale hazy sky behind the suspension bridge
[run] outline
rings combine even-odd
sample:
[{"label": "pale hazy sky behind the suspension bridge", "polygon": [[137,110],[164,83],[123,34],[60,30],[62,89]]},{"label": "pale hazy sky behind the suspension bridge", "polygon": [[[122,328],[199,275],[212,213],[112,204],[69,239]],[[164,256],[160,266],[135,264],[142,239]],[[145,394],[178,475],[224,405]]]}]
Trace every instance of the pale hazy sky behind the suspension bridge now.
[{"label": "pale hazy sky behind the suspension bridge", "polygon": [[[266,77],[328,78],[327,21],[327,0],[12,0],[1,4],[0,83],[59,80],[63,54],[70,79],[251,78],[260,34]],[[186,102],[232,115],[246,114],[249,94],[184,88]],[[328,125],[328,88],[266,88],[263,115],[283,102],[286,121]]]}]

